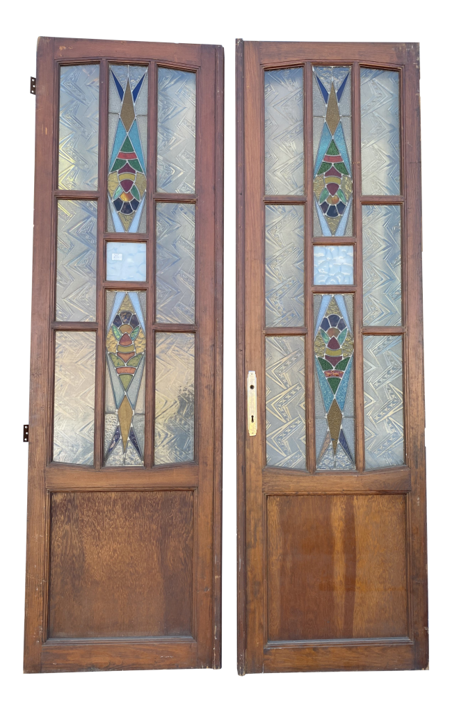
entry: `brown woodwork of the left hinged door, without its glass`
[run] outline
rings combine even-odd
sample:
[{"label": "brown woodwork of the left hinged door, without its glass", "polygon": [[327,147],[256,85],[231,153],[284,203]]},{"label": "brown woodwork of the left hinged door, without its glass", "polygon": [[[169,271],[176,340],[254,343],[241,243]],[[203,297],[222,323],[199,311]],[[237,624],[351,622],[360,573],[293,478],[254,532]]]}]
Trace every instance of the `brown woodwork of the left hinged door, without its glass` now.
[{"label": "brown woodwork of the left hinged door, without its glass", "polygon": [[[150,169],[147,177],[147,194],[149,196],[147,200],[147,232],[133,236],[107,233],[105,200],[107,70],[108,64],[115,61],[147,65],[149,71],[147,163]],[[100,63],[99,187],[93,192],[57,190],[59,67],[61,63],[77,65],[94,62]],[[196,194],[156,192],[154,167],[157,164],[155,141],[157,66],[160,65],[196,71],[197,73]],[[218,669],[221,666],[224,52],[222,48],[213,45],[42,37],[38,38],[37,66],[36,194],[31,325],[31,444],[28,459],[24,673],[115,669],[190,669],[196,667],[201,669],[216,667]],[[98,200],[98,291],[97,321],[95,323],[59,323],[54,320],[56,200],[62,198]],[[196,204],[195,324],[154,323],[155,201]],[[106,281],[105,241],[127,241],[130,239],[144,241],[148,244],[147,281],[141,283]],[[142,468],[103,467],[105,290],[118,288],[147,290],[148,293],[147,419],[144,467]],[[93,466],[74,466],[51,462],[53,333],[57,330],[90,330],[97,333],[95,460]],[[195,461],[193,463],[152,466],[154,430],[154,349],[152,342],[153,335],[157,331],[196,334]],[[162,507],[159,505],[157,509],[151,507],[148,515],[145,504],[151,501],[175,502],[177,498],[180,502],[180,498],[187,497],[191,501],[192,516],[190,560],[189,557],[184,559],[182,550],[177,553],[177,531],[178,527],[182,527],[184,522],[188,521],[187,510],[184,510],[184,514],[180,508],[179,510],[177,507],[174,508],[175,506],[172,510],[170,508],[172,513],[168,510],[170,514],[165,515],[167,523],[163,524],[164,516],[160,516],[157,510],[163,511],[164,504]],[[108,518],[107,514],[110,511],[108,503],[112,501],[116,503],[129,502],[129,505],[125,507],[127,513],[123,513],[122,518],[119,515],[114,535],[110,540],[105,538],[100,545],[103,529],[100,527],[99,532],[95,533],[97,526],[95,522],[97,519],[99,523],[103,516],[104,519]],[[51,502],[53,502],[52,517]],[[91,504],[88,506],[87,502]],[[130,504],[130,502],[135,504]],[[93,516],[87,514],[90,506],[94,513]],[[75,511],[78,511],[78,524],[75,523],[75,515],[75,518],[71,519],[71,513],[74,514]],[[80,526],[82,520],[83,536],[80,534],[80,530],[76,535],[75,528]],[[90,520],[89,524],[88,520]],[[153,530],[152,527],[154,527]],[[159,550],[162,553],[159,563],[162,567],[160,573],[151,572],[149,568],[149,557],[154,555],[152,547],[148,546],[139,552],[145,539],[144,537],[143,540],[140,540],[140,533],[144,536],[144,532],[149,533],[151,530],[153,540],[157,542],[155,551]],[[107,529],[105,529],[106,531]],[[114,582],[111,577],[102,577],[101,574],[102,571],[105,572],[105,568],[100,566],[100,578],[96,579],[94,584],[93,579],[90,579],[93,569],[90,569],[91,573],[88,572],[89,561],[93,561],[93,557],[98,555],[99,561],[108,567],[108,562],[110,561],[110,565],[113,565],[112,562],[117,557],[117,566],[121,569],[127,561],[130,563],[130,560],[127,560],[126,546],[129,536],[134,542],[132,549],[135,546],[137,552],[135,561],[140,560],[142,569],[140,567],[133,569],[132,567],[128,578],[130,582],[127,584],[122,580],[120,584]],[[77,557],[77,537],[79,544],[81,541],[83,547],[86,547],[83,560]],[[65,547],[58,550],[63,541]],[[98,554],[95,553],[96,544],[98,545]],[[128,547],[129,551],[132,549],[130,546]],[[60,553],[56,554],[57,551]],[[168,556],[165,560],[164,551],[172,551],[171,562],[168,560]],[[88,566],[86,570],[83,570],[84,565]],[[67,577],[65,573],[63,574],[63,570],[68,573]],[[182,585],[181,582],[186,580],[187,572],[190,571],[191,583],[189,592],[186,593],[188,590],[186,584]],[[70,582],[71,575],[75,577],[72,583]],[[160,586],[158,594],[154,592],[153,596],[151,589],[145,594],[149,596],[146,605],[142,603],[144,599],[140,599],[140,595],[146,589],[145,584],[143,584],[144,588],[141,584],[137,584],[135,586],[136,594],[132,592],[133,582],[137,583],[140,575],[142,582],[152,580],[154,587]],[[162,588],[161,583],[164,582],[165,576],[167,576],[167,584]],[[49,580],[52,581],[50,594]],[[127,585],[129,586],[128,593]],[[67,590],[64,589],[65,586]],[[119,586],[117,593],[115,593],[115,586]],[[84,595],[90,597],[88,607],[83,604]],[[61,607],[63,599],[68,602],[67,609]],[[110,601],[110,604],[105,608],[106,615],[103,618],[100,614],[101,600]],[[160,604],[164,601],[162,614],[159,614],[157,600],[160,600]],[[189,603],[190,601],[192,605]],[[135,611],[137,613],[135,615],[134,605],[138,608],[141,606],[141,613]],[[189,619],[186,614],[187,605],[190,607]],[[83,615],[90,606],[98,612],[93,615],[93,630],[97,631],[96,635],[103,635],[104,639],[101,642],[90,642],[86,638],[74,641],[74,635],[75,637],[89,635],[83,629],[86,624]],[[115,614],[113,614],[114,610]],[[142,630],[139,629],[140,620],[144,621],[144,611],[145,615],[151,618],[154,616],[152,619],[154,622],[160,621],[162,625],[167,626],[166,632],[162,630],[159,640],[152,644],[140,637],[142,636]],[[48,612],[50,612],[50,617]],[[183,618],[183,620],[181,618],[182,622],[179,621],[180,625],[182,626],[183,623],[185,627],[187,625],[190,627],[188,639],[175,638],[175,629],[171,628],[173,624],[164,623],[165,620],[169,620],[165,618],[168,615],[173,617],[174,622],[176,620],[174,616],[177,617],[177,614]],[[127,615],[129,615],[128,619]],[[117,622],[116,628],[115,621]],[[133,628],[135,624],[137,625],[136,629]],[[67,638],[67,642],[62,640],[58,644],[50,640],[46,641],[49,625],[53,636],[64,634],[71,637]],[[158,630],[157,628],[152,629],[152,625],[149,623],[151,631],[149,634],[155,636]],[[79,627],[78,631],[75,630],[77,626]],[[129,628],[132,626],[129,631],[130,635],[127,634],[127,626]],[[115,636],[119,636],[119,638],[115,638]]]}]

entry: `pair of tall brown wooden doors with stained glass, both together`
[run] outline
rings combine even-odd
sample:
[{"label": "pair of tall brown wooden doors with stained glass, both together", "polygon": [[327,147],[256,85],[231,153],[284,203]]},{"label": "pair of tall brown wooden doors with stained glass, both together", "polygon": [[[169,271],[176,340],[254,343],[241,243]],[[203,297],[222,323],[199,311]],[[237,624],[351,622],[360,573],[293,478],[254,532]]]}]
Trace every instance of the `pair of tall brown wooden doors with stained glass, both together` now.
[{"label": "pair of tall brown wooden doors with stained glass, both together", "polygon": [[[418,58],[236,44],[238,674],[426,666]],[[223,98],[38,39],[27,674],[221,667]]]}]

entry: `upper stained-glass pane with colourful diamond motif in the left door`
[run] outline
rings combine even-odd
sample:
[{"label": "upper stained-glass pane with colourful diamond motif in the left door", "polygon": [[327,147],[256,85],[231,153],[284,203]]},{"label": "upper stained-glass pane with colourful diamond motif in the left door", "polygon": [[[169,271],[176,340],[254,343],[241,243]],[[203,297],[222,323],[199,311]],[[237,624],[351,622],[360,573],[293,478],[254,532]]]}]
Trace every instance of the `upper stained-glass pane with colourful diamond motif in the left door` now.
[{"label": "upper stained-glass pane with colourful diamond motif in the left door", "polygon": [[147,68],[110,65],[108,231],[146,232]]}]

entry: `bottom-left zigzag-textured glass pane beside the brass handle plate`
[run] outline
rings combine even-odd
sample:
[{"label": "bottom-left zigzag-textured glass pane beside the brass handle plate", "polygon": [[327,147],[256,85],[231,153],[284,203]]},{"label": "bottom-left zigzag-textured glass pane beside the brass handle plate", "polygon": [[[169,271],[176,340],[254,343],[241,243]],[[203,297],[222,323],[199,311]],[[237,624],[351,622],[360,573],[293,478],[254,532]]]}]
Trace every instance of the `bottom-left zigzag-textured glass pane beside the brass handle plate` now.
[{"label": "bottom-left zigzag-textured glass pane beside the brass handle plate", "polygon": [[305,340],[266,338],[267,464],[304,469]]}]

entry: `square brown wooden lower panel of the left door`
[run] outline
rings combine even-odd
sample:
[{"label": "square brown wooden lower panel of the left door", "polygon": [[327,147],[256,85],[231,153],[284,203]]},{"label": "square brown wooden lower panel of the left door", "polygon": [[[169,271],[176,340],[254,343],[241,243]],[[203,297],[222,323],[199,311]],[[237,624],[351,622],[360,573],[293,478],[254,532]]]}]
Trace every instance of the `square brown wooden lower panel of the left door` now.
[{"label": "square brown wooden lower panel of the left door", "polygon": [[194,493],[58,492],[51,638],[191,635]]}]

